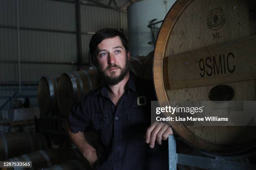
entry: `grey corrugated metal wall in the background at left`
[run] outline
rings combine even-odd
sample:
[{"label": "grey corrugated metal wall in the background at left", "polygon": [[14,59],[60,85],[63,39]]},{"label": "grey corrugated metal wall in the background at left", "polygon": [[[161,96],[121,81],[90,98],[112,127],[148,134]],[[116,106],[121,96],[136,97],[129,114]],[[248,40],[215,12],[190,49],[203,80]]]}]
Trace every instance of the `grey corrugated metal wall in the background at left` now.
[{"label": "grey corrugated metal wall in the background at left", "polygon": [[[70,1],[70,2],[69,2]],[[38,82],[43,75],[77,70],[76,8],[74,0],[19,0],[21,82]],[[115,0],[110,8],[81,0],[82,61],[89,62],[91,34],[101,28],[118,28],[127,33],[127,15],[114,8],[127,7],[128,0]],[[101,0],[108,5],[110,0]],[[16,0],[0,0],[0,82],[18,82],[18,38]],[[31,63],[34,62],[34,63]],[[43,63],[40,63],[43,62]],[[54,62],[54,63],[50,63]],[[60,62],[57,64],[56,62]],[[68,64],[69,63],[69,64]],[[85,65],[86,66],[86,65]],[[18,86],[0,85],[0,106]],[[36,86],[22,86],[23,97],[37,105]],[[4,107],[8,110],[10,102]],[[0,112],[1,114],[1,112]]]}]

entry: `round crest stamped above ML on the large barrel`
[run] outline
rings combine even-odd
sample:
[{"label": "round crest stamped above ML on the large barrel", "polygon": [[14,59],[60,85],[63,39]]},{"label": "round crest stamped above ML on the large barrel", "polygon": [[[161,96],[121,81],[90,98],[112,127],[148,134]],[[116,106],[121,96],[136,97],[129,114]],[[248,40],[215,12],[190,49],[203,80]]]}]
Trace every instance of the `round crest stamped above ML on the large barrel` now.
[{"label": "round crest stamped above ML on the large barrel", "polygon": [[210,10],[207,16],[207,26],[211,30],[218,30],[226,23],[225,13],[221,7]]}]

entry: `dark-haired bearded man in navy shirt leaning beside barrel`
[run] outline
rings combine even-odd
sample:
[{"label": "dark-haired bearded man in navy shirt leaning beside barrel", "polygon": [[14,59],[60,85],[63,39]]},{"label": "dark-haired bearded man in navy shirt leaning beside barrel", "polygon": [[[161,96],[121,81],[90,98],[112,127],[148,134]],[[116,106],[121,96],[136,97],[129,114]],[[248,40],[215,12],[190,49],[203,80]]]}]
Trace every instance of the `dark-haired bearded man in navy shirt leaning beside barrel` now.
[{"label": "dark-haired bearded man in navy shirt leaning beside barrel", "polygon": [[[99,30],[91,38],[90,53],[105,84],[82,97],[69,114],[67,127],[73,143],[97,170],[167,169],[168,150],[159,145],[172,129],[160,122],[150,125],[154,88],[129,71],[127,39],[115,29]],[[87,127],[97,130],[107,148],[100,161],[84,137]]]}]

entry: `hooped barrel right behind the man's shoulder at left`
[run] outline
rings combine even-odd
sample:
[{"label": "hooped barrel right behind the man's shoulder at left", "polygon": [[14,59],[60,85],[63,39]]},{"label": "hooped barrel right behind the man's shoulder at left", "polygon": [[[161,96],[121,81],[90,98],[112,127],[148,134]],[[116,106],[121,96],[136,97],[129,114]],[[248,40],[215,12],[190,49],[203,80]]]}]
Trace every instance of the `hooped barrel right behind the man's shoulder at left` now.
[{"label": "hooped barrel right behind the man's shoulder at left", "polygon": [[59,77],[58,106],[62,116],[69,115],[73,105],[90,90],[100,85],[100,77],[94,68],[74,72],[65,72]]}]

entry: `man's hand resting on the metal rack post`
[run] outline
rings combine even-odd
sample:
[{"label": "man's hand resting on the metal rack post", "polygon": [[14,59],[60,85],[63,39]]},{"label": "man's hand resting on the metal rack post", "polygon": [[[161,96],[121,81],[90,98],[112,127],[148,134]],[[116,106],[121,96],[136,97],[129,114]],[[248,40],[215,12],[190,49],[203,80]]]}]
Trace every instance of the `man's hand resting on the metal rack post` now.
[{"label": "man's hand resting on the metal rack post", "polygon": [[162,140],[167,140],[169,135],[172,135],[172,128],[162,122],[154,122],[146,131],[146,143],[149,143],[150,148],[154,148],[155,141],[162,145]]}]

